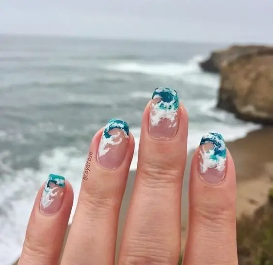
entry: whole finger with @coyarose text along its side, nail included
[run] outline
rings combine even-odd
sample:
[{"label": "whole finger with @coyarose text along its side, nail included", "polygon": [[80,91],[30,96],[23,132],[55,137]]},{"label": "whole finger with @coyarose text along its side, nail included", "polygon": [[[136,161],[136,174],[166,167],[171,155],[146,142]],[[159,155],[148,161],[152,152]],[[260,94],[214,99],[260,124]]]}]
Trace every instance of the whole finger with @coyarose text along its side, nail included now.
[{"label": "whole finger with @coyarose text along its side, nail included", "polygon": [[118,215],[134,140],[128,124],[110,120],[91,143],[62,265],[113,265]]}]

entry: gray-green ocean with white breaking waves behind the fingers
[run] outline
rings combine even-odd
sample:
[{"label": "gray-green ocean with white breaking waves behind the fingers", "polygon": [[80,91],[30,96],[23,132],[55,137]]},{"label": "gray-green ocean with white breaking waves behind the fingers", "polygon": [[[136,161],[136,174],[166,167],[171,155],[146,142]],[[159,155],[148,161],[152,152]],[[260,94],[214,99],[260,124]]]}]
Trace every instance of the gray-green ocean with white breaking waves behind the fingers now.
[{"label": "gray-green ocean with white breaking waves behind the fingers", "polygon": [[19,256],[33,200],[49,173],[64,175],[77,201],[89,143],[109,118],[128,122],[136,169],[142,112],[155,88],[175,88],[186,106],[188,150],[208,131],[232,141],[256,129],[215,108],[220,77],[198,66],[223,47],[0,36],[0,264]]}]

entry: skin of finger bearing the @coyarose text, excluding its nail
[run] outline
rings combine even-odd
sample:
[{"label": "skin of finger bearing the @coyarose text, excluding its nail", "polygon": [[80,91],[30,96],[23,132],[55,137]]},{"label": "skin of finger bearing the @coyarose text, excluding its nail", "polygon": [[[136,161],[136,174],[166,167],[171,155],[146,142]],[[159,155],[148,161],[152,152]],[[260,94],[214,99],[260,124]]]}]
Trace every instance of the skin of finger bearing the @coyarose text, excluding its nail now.
[{"label": "skin of finger bearing the @coyarose text, excluding its nail", "polygon": [[96,133],[88,151],[88,158],[92,157],[89,159],[90,170],[86,170],[86,163],[62,265],[114,264],[118,215],[133,156],[134,139],[129,136],[122,164],[109,170],[101,167],[96,159],[102,131]]}]

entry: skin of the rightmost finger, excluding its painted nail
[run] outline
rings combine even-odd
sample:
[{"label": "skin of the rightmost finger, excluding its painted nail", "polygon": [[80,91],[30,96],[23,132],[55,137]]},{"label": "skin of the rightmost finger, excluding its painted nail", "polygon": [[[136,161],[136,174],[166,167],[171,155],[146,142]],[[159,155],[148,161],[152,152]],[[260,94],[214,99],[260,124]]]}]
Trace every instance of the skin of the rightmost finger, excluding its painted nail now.
[{"label": "skin of the rightmost finger, excluding its painted nail", "polygon": [[236,173],[227,151],[225,179],[218,185],[198,175],[198,151],[190,178],[188,239],[183,265],[238,265],[236,247]]}]

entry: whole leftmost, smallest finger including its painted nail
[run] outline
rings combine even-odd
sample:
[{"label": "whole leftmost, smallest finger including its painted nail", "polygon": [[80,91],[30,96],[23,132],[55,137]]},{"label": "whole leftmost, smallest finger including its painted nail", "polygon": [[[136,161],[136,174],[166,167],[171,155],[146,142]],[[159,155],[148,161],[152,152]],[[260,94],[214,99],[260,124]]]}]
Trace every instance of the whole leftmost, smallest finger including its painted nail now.
[{"label": "whole leftmost, smallest finger including its painted nail", "polygon": [[64,177],[49,175],[32,209],[18,265],[57,265],[73,203]]}]

